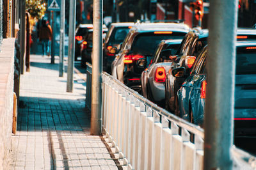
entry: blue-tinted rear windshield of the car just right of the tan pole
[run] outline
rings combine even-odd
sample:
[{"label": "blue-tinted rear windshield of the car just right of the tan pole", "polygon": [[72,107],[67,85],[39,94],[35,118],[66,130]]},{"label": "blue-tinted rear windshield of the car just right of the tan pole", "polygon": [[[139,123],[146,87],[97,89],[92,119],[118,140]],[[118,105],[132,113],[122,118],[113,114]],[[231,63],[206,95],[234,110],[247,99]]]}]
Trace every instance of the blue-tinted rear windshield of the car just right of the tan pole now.
[{"label": "blue-tinted rear windshield of the car just right of the tan pole", "polygon": [[129,27],[116,27],[109,37],[109,45],[122,43],[129,30]]}]

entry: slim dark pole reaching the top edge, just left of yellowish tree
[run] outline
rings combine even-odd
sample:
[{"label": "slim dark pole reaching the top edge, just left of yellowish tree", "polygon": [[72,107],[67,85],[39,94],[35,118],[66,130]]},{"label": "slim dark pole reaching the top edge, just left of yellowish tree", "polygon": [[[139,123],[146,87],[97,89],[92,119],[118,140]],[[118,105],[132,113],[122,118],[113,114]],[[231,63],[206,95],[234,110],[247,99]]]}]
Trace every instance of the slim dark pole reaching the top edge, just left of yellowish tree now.
[{"label": "slim dark pole reaching the top edge, just left of yellowish tree", "polygon": [[26,20],[25,20],[25,13],[26,13],[26,1],[22,0],[20,2],[20,73],[24,73],[24,55],[25,55],[25,45],[26,45]]}]

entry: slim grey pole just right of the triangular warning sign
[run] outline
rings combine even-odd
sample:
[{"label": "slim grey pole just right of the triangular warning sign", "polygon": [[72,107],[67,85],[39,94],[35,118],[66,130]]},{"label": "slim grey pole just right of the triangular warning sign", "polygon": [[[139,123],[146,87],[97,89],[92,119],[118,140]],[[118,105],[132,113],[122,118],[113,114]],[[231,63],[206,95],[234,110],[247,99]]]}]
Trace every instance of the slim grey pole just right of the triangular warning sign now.
[{"label": "slim grey pole just right of the triangular warning sign", "polygon": [[60,64],[59,77],[63,77],[64,72],[64,56],[65,56],[65,0],[61,1],[60,10]]}]

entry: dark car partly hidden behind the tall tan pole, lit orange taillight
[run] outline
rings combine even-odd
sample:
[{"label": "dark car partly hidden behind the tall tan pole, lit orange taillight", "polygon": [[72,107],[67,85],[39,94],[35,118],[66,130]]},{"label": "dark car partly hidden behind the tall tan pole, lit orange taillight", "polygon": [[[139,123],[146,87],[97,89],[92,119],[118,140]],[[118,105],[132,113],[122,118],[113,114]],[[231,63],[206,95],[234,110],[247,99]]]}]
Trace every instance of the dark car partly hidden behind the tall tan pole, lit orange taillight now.
[{"label": "dark car partly hidden behind the tall tan pole, lit orange taillight", "polygon": [[[106,35],[107,32],[108,32],[108,28],[105,26],[102,27],[102,38],[104,38],[103,35]],[[93,38],[93,28],[88,29],[88,31],[84,35],[84,40],[81,45],[81,66],[82,67],[86,66],[86,62],[92,63],[92,46],[93,46],[92,38]]]}]

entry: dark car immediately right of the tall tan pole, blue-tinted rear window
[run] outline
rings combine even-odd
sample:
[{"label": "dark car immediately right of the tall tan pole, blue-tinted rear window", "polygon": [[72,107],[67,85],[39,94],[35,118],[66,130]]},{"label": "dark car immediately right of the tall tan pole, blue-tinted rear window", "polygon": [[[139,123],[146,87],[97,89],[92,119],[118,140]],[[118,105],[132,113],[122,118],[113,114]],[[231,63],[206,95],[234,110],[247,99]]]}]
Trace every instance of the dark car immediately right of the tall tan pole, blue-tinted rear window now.
[{"label": "dark car immediately right of the tall tan pole, blue-tinted rear window", "polygon": [[[115,59],[118,45],[124,41],[125,36],[129,33],[134,22],[112,23],[103,43],[103,70],[110,73],[111,63]],[[114,50],[113,50],[114,49]]]}]

